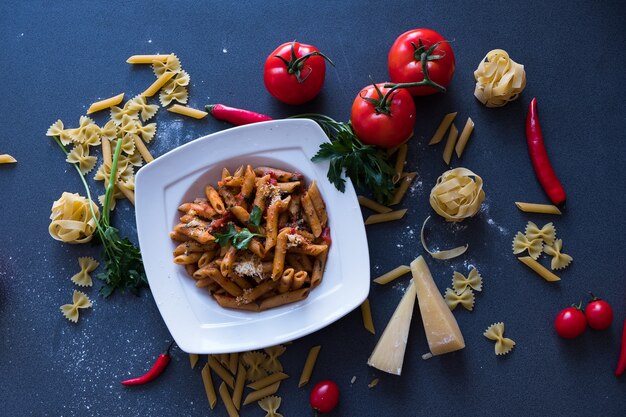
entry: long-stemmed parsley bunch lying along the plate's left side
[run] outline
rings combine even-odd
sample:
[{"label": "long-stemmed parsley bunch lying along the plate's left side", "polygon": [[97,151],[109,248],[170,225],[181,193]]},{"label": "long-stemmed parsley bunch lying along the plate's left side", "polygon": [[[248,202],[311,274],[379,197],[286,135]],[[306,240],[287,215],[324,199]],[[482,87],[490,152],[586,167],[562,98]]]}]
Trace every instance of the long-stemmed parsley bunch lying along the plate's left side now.
[{"label": "long-stemmed parsley bunch lying along the plate's left side", "polygon": [[[65,146],[61,143],[57,136],[54,136],[55,142],[61,147],[67,155]],[[98,221],[92,204],[95,204],[91,198],[89,186],[85,180],[85,176],[80,171],[77,164],[74,164],[76,171],[80,175],[80,179],[85,186],[87,198],[90,201],[89,208],[91,215],[96,221],[97,236],[102,243],[104,250],[103,259],[105,272],[101,272],[96,277],[104,282],[104,286],[100,288],[100,295],[104,298],[109,297],[115,290],[128,290],[134,295],[139,295],[139,291],[143,287],[148,286],[146,271],[141,259],[141,252],[128,238],[120,238],[119,231],[111,226],[110,223],[110,207],[113,190],[115,187],[115,177],[117,175],[117,161],[122,151],[122,141],[117,141],[113,161],[111,163],[111,175],[107,185],[104,204],[102,206],[102,216]]]}]

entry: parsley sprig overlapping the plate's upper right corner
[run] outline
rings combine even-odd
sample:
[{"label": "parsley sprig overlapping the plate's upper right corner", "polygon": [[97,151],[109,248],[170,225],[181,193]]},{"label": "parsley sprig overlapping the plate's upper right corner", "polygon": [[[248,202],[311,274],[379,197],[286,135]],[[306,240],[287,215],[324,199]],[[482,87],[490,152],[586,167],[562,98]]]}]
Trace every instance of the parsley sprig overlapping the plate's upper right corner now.
[{"label": "parsley sprig overlapping the plate's upper right corner", "polygon": [[328,159],[328,180],[335,187],[344,192],[346,180],[342,177],[345,172],[357,188],[365,188],[372,192],[374,199],[382,204],[388,204],[394,193],[394,168],[389,163],[387,154],[380,148],[365,145],[359,140],[350,123],[338,122],[323,114],[308,113],[293,116],[294,118],[311,119],[316,122],[330,143],[323,143],[313,162]]}]

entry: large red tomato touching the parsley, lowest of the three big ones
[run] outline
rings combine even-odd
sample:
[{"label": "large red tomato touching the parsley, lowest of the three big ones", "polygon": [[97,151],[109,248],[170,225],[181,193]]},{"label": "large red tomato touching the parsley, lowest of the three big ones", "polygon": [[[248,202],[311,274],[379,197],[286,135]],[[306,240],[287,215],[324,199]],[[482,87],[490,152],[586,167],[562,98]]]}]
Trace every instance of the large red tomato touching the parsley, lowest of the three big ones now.
[{"label": "large red tomato touching the parsley, lowest of the three big ones", "polygon": [[413,135],[415,103],[405,88],[392,91],[385,83],[370,85],[352,103],[350,122],[354,133],[367,145],[393,148]]}]

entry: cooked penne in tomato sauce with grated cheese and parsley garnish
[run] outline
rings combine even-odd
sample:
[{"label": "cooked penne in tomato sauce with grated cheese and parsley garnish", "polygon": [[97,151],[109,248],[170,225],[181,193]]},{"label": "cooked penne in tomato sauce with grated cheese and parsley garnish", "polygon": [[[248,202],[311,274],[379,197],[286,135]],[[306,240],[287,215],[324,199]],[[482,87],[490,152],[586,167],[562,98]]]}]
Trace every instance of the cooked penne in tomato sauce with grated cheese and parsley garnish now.
[{"label": "cooked penne in tomato sauce with grated cheese and parsley garnish", "polygon": [[174,262],[224,308],[264,311],[306,299],[331,244],[320,189],[297,172],[230,168],[178,206]]}]

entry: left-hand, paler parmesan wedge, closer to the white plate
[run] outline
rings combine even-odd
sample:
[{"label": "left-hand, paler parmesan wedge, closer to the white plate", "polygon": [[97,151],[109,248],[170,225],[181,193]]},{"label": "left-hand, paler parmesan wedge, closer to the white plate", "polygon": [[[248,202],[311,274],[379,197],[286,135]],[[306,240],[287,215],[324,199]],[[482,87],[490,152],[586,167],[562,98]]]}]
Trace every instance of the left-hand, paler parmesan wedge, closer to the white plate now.
[{"label": "left-hand, paler parmesan wedge, closer to the white plate", "polygon": [[415,294],[415,285],[411,281],[372,355],[367,360],[369,366],[394,375],[400,375],[402,372],[404,351],[415,306]]}]

